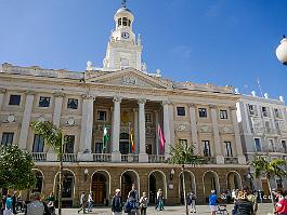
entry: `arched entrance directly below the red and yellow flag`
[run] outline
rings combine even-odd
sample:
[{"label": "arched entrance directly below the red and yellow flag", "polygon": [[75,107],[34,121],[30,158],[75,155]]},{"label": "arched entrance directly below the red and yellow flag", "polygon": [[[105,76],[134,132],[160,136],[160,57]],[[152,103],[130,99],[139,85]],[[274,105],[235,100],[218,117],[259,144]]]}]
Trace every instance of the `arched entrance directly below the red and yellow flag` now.
[{"label": "arched entrance directly below the red and yellow flag", "polygon": [[135,171],[126,171],[122,173],[120,182],[121,182],[121,198],[123,202],[126,202],[126,200],[128,199],[128,194],[129,191],[131,191],[132,184],[135,184],[136,189],[139,191],[139,196],[141,196],[139,180],[140,180],[139,175]]}]

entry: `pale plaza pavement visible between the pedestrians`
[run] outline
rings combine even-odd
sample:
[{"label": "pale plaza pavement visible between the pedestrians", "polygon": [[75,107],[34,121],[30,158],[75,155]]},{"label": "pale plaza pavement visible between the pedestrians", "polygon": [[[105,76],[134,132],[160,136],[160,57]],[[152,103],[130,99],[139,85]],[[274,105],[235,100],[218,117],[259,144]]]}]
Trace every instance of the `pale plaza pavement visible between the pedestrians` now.
[{"label": "pale plaza pavement visible between the pedestrians", "polygon": [[[229,215],[231,215],[231,210],[233,205],[229,204],[227,210],[229,210]],[[63,210],[63,215],[77,215],[78,210],[77,209],[64,209]],[[82,212],[80,213],[82,214]],[[93,209],[93,212],[90,214],[99,214],[99,215],[112,215],[110,209],[105,207],[105,209]],[[125,215],[123,213],[122,215]],[[160,215],[160,214],[167,214],[167,215],[184,215],[184,206],[166,206],[164,212],[157,212],[155,211],[154,206],[149,206],[147,209],[147,215]],[[198,205],[197,206],[197,213],[198,215],[210,215],[209,212],[209,206],[208,205]],[[264,203],[264,204],[259,204],[259,211],[257,215],[271,215],[272,213],[272,205],[270,203]]]}]

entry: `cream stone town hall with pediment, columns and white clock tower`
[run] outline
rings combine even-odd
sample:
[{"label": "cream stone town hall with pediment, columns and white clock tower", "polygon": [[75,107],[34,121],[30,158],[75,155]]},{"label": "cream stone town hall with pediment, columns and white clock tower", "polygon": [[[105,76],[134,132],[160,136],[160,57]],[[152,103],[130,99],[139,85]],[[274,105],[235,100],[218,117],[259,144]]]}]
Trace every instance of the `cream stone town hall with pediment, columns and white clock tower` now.
[{"label": "cream stone town hall with pediment, columns and white clock tower", "polygon": [[[76,205],[81,191],[93,191],[105,205],[113,190],[123,198],[135,183],[155,202],[158,188],[168,204],[180,202],[180,167],[170,165],[169,145],[194,145],[208,164],[190,166],[186,186],[205,202],[211,189],[242,188],[248,166],[236,117],[239,95],[230,86],[177,82],[160,70],[148,72],[142,62],[141,37],[132,30],[134,16],[123,5],[102,68],[87,63],[84,71],[21,67],[8,63],[0,70],[0,139],[32,153],[43,193],[57,189],[55,153],[29,126],[48,120],[69,136],[64,146],[65,205]],[[158,125],[166,144],[159,146]],[[103,151],[103,133],[109,139]],[[130,134],[133,133],[134,150]]]}]

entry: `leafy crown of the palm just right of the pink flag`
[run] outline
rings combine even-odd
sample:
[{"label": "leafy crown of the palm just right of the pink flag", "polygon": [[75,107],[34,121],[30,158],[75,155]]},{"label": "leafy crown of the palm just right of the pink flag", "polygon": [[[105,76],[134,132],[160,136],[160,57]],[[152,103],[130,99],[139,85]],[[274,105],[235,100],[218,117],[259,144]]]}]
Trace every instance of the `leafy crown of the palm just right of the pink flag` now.
[{"label": "leafy crown of the palm just right of the pink flag", "polygon": [[204,157],[194,154],[193,145],[185,145],[179,142],[175,146],[170,146],[169,163],[200,165],[206,162]]}]

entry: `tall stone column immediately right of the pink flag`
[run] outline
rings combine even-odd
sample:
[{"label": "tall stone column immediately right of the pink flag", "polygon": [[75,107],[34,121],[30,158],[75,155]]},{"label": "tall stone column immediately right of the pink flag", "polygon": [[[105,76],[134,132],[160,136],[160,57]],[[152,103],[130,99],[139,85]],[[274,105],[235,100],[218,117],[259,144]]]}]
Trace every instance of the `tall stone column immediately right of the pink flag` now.
[{"label": "tall stone column immediately right of the pink flag", "polygon": [[171,105],[171,102],[169,100],[165,100],[162,102],[164,105],[164,135],[166,138],[166,144],[165,144],[165,157],[166,159],[169,158],[169,145],[171,144],[170,140],[170,124],[169,124],[169,120],[170,120],[170,116],[169,116],[169,106]]}]

